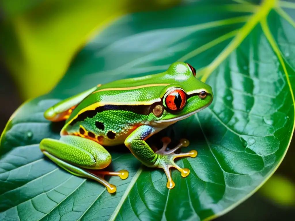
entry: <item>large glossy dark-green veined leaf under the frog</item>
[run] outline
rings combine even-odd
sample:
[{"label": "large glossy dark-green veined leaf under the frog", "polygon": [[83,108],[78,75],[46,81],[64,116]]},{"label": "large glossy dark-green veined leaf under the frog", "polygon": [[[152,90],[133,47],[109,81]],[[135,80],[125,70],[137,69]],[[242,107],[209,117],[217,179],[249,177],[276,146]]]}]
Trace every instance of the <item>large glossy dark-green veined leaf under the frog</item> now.
[{"label": "large glossy dark-green veined leaf under the frog", "polygon": [[[46,96],[22,105],[1,137],[0,220],[210,220],[250,197],[276,170],[294,131],[293,3],[196,1],[122,17],[98,34]],[[275,4],[276,3],[276,4]],[[280,8],[283,6],[288,9]],[[293,17],[292,17],[293,16]],[[113,80],[161,72],[189,62],[214,90],[209,108],[152,136],[190,140],[196,158],[172,176],[141,166],[124,146],[109,149],[109,194],[42,156],[39,142],[59,138],[62,123],[43,112],[60,99]]]}]

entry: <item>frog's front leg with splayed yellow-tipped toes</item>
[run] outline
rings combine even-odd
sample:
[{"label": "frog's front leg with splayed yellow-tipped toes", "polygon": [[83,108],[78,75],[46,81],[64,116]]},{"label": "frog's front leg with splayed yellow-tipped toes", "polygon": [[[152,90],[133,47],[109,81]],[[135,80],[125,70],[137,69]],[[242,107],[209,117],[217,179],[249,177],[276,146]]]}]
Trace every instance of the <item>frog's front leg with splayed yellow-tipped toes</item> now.
[{"label": "frog's front leg with splayed yellow-tipped toes", "polygon": [[166,151],[166,147],[171,142],[171,140],[170,138],[165,137],[162,139],[163,147],[155,153],[145,142],[145,140],[154,133],[157,133],[156,128],[149,125],[142,125],[136,128],[136,130],[127,137],[125,140],[125,145],[130,149],[132,154],[146,166],[162,168],[165,171],[168,179],[167,187],[172,189],[175,186],[175,183],[171,177],[171,167],[178,169],[181,172],[182,177],[189,175],[189,169],[182,169],[174,162],[174,159],[184,156],[196,157],[197,151],[191,150],[188,153],[181,154],[174,153],[174,151],[179,149],[181,146],[189,145],[189,141],[186,139],[182,139],[180,144],[178,144],[178,146],[176,146],[174,149]]}]

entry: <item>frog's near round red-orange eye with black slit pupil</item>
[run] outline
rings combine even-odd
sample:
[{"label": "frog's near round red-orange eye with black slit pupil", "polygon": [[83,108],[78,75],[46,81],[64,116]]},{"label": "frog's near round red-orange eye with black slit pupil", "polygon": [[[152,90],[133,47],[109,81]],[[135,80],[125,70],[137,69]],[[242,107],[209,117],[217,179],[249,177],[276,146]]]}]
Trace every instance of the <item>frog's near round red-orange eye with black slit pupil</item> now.
[{"label": "frog's near round red-orange eye with black slit pupil", "polygon": [[186,93],[180,89],[171,91],[165,98],[165,104],[170,110],[181,110],[186,105]]}]

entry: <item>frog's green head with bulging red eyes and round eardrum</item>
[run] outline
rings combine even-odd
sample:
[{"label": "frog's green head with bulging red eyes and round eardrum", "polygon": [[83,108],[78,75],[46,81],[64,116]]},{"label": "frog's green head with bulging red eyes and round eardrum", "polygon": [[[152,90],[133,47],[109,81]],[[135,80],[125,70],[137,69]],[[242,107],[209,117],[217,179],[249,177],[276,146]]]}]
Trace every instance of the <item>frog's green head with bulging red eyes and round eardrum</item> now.
[{"label": "frog's green head with bulging red eyes and round eardrum", "polygon": [[[173,63],[165,72],[170,79],[160,93],[161,104],[153,109],[153,122],[171,124],[208,107],[213,100],[212,88],[196,78],[196,69],[184,62]],[[173,82],[173,83],[172,83]]]}]

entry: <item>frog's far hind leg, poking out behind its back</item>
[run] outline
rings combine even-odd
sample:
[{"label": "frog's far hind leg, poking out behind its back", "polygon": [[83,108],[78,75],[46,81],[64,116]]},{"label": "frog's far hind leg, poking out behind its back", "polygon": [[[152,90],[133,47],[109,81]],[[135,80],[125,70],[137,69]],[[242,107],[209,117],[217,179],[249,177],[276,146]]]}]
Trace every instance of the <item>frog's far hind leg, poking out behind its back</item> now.
[{"label": "frog's far hind leg, poking out behind its back", "polygon": [[97,86],[58,102],[45,111],[44,117],[49,121],[63,121],[68,119],[76,105],[78,105],[89,94],[94,92],[96,88]]}]

